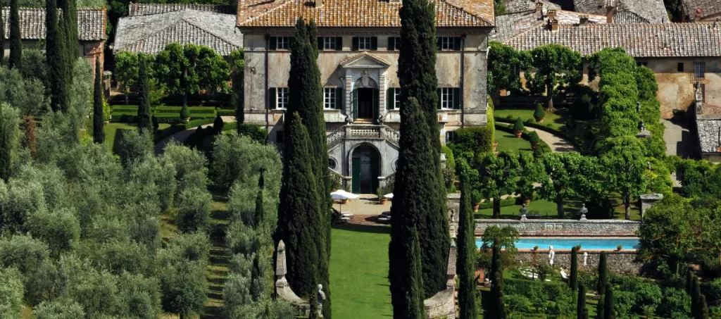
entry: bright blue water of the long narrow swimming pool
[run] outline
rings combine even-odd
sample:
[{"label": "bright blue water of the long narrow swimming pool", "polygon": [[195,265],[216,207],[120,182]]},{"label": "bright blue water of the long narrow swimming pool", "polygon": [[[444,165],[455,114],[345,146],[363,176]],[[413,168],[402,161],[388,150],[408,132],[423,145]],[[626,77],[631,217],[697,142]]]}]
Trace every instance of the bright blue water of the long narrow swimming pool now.
[{"label": "bright blue water of the long narrow swimming pool", "polygon": [[[481,247],[482,240],[476,240],[476,246]],[[533,249],[539,246],[539,249],[548,249],[553,245],[554,249],[571,249],[581,245],[582,249],[612,249],[615,250],[619,245],[624,249],[639,248],[638,238],[521,238],[516,242],[518,249]]]}]

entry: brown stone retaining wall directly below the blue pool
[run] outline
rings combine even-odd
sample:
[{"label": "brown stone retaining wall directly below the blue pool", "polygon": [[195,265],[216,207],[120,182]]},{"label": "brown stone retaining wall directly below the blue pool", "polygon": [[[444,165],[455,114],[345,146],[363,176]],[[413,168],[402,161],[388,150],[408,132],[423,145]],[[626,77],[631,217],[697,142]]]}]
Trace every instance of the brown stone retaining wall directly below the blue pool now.
[{"label": "brown stone retaining wall directly below the blue pool", "polygon": [[[570,274],[571,268],[571,252],[570,250],[555,250],[556,255],[553,259],[554,266],[559,266],[566,269],[567,274]],[[583,265],[583,253],[588,253],[588,259],[586,265]],[[635,250],[622,250],[606,252],[608,259],[606,266],[609,271],[614,274],[626,274],[626,275],[637,275],[641,271],[642,263],[636,260]],[[517,259],[523,264],[533,263],[548,263],[548,250],[519,250]],[[598,260],[601,258],[601,251],[599,250],[581,250],[578,253],[578,270],[579,271],[598,271]]]}]

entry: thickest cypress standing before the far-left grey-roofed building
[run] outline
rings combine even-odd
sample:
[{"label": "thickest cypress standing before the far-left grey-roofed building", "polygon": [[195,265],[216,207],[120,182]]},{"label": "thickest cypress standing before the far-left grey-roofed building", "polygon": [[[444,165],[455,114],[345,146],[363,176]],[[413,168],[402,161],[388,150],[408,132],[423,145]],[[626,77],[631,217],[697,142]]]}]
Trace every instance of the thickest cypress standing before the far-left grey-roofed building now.
[{"label": "thickest cypress standing before the far-left grey-roofed building", "polygon": [[64,111],[68,108],[66,58],[63,32],[58,23],[56,0],[45,0],[45,57],[48,61],[50,83],[50,108]]}]

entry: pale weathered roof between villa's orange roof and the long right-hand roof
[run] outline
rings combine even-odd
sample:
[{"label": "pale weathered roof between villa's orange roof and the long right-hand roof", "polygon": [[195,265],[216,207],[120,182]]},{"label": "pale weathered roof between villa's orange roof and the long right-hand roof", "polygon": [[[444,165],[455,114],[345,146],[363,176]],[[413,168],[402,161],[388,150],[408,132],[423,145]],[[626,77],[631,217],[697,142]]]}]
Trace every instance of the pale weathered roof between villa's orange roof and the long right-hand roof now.
[{"label": "pale weathered roof between villa's orange roof and the long right-hand roof", "polygon": [[[581,17],[588,17],[588,23],[606,23],[606,17],[597,14],[584,14],[565,10],[556,10],[555,19],[560,25],[578,25]],[[534,27],[547,25],[548,17],[543,12],[536,12],[535,9],[526,12],[512,14],[501,14],[496,16],[496,27],[490,33],[491,39],[505,41],[513,38],[521,32]]]}]

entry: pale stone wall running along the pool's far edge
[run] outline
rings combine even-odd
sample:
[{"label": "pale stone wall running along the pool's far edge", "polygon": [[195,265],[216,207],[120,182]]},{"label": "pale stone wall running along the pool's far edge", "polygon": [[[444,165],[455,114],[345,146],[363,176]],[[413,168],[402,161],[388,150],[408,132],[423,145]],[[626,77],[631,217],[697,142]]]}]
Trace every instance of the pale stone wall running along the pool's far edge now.
[{"label": "pale stone wall running along the pool's far edge", "polygon": [[[451,210],[450,205],[448,209]],[[513,219],[477,219],[476,235],[483,235],[486,228],[494,225],[516,228],[521,236],[635,236],[641,222],[613,219],[583,222],[574,219],[529,219],[523,222]]]}]

